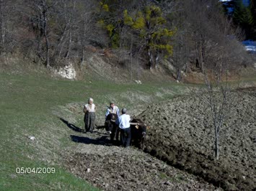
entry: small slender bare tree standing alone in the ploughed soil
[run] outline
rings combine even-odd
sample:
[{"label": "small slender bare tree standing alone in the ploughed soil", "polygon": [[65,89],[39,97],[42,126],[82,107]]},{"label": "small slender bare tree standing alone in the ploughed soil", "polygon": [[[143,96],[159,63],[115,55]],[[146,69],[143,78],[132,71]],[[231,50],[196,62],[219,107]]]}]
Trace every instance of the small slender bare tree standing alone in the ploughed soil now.
[{"label": "small slender bare tree standing alone in the ploughed soil", "polygon": [[[225,43],[225,42],[224,42]],[[220,131],[225,126],[229,126],[227,119],[230,117],[232,109],[234,109],[233,101],[235,93],[231,92],[228,73],[230,71],[229,64],[231,60],[226,57],[226,50],[221,46],[219,57],[216,58],[211,67],[204,67],[203,77],[205,89],[202,94],[202,101],[205,104],[206,116],[211,116],[211,124],[214,127],[214,156],[219,159],[219,137]],[[235,116],[232,116],[233,118]]]}]

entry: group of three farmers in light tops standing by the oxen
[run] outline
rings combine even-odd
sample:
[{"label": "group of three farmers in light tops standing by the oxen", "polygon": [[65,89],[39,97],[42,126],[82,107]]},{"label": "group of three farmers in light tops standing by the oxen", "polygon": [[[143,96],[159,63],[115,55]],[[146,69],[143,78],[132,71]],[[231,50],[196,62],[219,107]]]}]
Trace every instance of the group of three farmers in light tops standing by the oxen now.
[{"label": "group of three farmers in light tops standing by the oxen", "polygon": [[[88,103],[84,105],[84,124],[85,124],[85,131],[92,133],[95,126],[95,111],[96,106],[93,103],[93,99],[89,98]],[[130,146],[131,142],[131,127],[130,121],[131,117],[126,114],[127,109],[123,108],[121,110],[121,114],[119,111],[118,106],[115,106],[115,103],[110,101],[110,106],[107,108],[105,113],[105,118],[112,113],[116,114],[118,118],[115,120],[115,124],[118,126],[118,130],[120,130],[120,139],[123,146],[127,147]],[[117,134],[118,136],[118,134]]]}]

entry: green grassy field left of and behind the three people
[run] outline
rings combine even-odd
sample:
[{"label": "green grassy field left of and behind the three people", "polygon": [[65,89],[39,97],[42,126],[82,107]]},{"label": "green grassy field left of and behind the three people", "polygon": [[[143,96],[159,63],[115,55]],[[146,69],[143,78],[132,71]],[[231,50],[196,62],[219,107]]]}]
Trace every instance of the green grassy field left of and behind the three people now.
[{"label": "green grassy field left of and behind the three people", "polygon": [[[97,190],[63,167],[63,154],[76,143],[69,140],[73,132],[60,118],[83,126],[82,113],[76,115],[67,106],[80,106],[92,97],[97,115],[104,118],[110,100],[134,110],[186,92],[186,85],[172,82],[122,85],[90,80],[0,74],[0,190]],[[21,167],[53,167],[56,171],[17,174]]]}]

